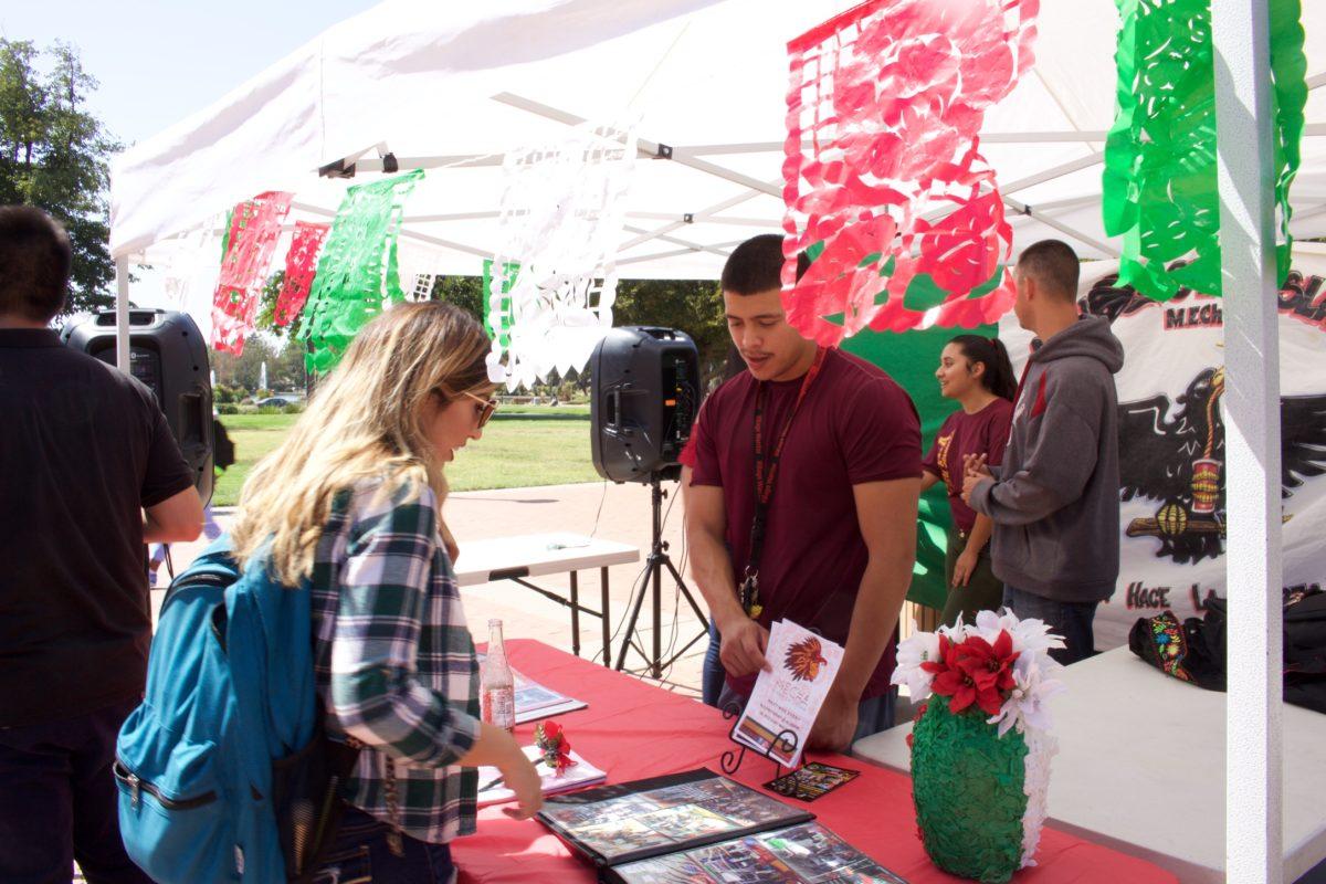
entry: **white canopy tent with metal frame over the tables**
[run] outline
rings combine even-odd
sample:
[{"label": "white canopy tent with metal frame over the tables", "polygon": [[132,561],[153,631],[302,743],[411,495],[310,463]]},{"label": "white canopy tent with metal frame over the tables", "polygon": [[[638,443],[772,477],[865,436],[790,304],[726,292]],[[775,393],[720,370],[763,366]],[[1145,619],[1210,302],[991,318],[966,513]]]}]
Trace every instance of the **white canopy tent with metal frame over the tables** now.
[{"label": "white canopy tent with metal frame over the tables", "polygon": [[[438,273],[476,274],[481,260],[496,250],[503,154],[554,140],[579,121],[634,123],[642,158],[658,158],[636,167],[617,254],[619,274],[716,278],[736,243],[781,225],[785,45],[847,5],[849,0],[387,0],[341,23],[114,162],[111,250],[121,270],[121,364],[127,366],[129,265],[160,261],[187,241],[179,237],[213,223],[235,203],[261,191],[292,191],[292,221],[326,219],[349,183],[385,166],[427,167],[427,180],[407,203],[402,241],[424,248],[426,262]],[[1302,167],[1292,191],[1292,229],[1306,239],[1326,236],[1326,4],[1303,0],[1302,5],[1313,91]],[[1227,23],[1223,54],[1238,40],[1253,38],[1256,29],[1244,27],[1252,15],[1265,16],[1265,0],[1216,0],[1216,7]],[[1232,38],[1235,13],[1244,21],[1235,25],[1241,30]],[[1041,0],[1038,30],[1036,66],[987,114],[983,130],[984,154],[998,172],[1006,207],[1017,213],[1014,250],[1057,236],[1085,257],[1115,257],[1118,244],[1109,241],[1101,221],[1103,138],[1114,109],[1114,3]],[[1250,58],[1257,60],[1256,52]],[[1265,87],[1264,54],[1231,70],[1236,85]],[[1225,87],[1221,102],[1223,113],[1253,107],[1241,86]],[[1265,119],[1264,110],[1257,119]],[[1221,126],[1228,119],[1225,113]],[[1223,159],[1256,180],[1256,152],[1232,158],[1223,150]],[[357,178],[318,176],[320,167],[335,163],[353,164]],[[1227,199],[1237,184],[1224,188]],[[1261,216],[1248,205],[1229,208],[1248,215],[1236,219],[1248,237],[1237,244],[1257,250],[1269,232]],[[1256,326],[1258,311],[1268,310],[1273,319],[1273,307],[1254,262],[1245,262],[1232,281],[1228,334],[1246,338],[1229,350],[1231,388],[1262,396],[1273,391],[1265,382],[1274,372],[1265,366],[1276,364],[1274,323],[1268,339],[1264,327],[1249,330],[1246,322]],[[1260,367],[1248,355],[1258,347]],[[1231,420],[1231,447],[1245,452],[1231,460],[1232,526],[1236,510],[1240,518],[1261,512],[1258,506],[1269,513],[1269,501],[1278,498],[1278,467],[1270,453],[1278,448],[1276,421],[1258,419],[1262,425],[1253,427],[1250,415],[1244,410]],[[1235,498],[1246,505],[1236,506]],[[1264,615],[1254,618],[1256,628],[1274,632],[1278,610],[1268,588],[1278,587],[1278,565],[1246,562],[1276,545],[1276,520],[1261,521],[1266,530],[1258,538],[1265,542],[1249,538],[1240,550],[1231,530],[1229,584],[1244,587],[1240,604],[1248,607],[1236,606],[1236,612],[1256,606]],[[1240,636],[1246,637],[1246,630]],[[1244,839],[1236,844],[1242,851],[1238,867],[1260,865],[1265,872],[1242,880],[1280,877],[1270,859],[1278,856],[1280,843],[1278,810],[1270,810],[1278,807],[1280,762],[1268,749],[1280,732],[1276,704],[1266,702],[1278,696],[1268,668],[1276,653],[1274,640],[1270,647],[1248,644],[1231,664],[1232,671],[1248,664],[1244,685],[1265,676],[1252,706],[1253,725],[1265,725],[1262,738],[1242,759],[1231,753],[1231,843],[1236,831],[1256,835],[1260,847]]]}]

